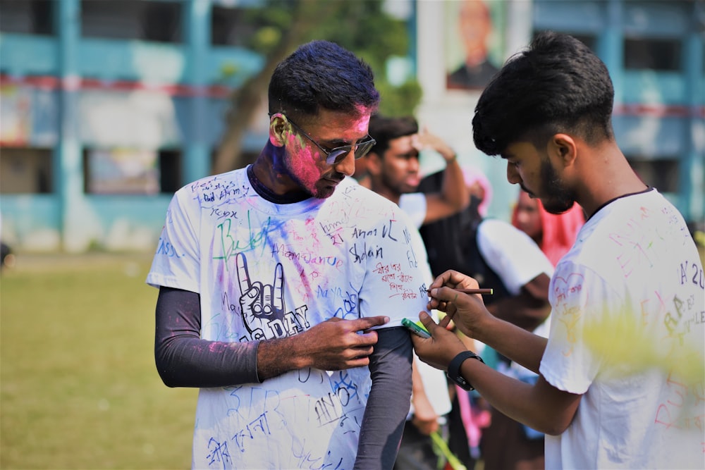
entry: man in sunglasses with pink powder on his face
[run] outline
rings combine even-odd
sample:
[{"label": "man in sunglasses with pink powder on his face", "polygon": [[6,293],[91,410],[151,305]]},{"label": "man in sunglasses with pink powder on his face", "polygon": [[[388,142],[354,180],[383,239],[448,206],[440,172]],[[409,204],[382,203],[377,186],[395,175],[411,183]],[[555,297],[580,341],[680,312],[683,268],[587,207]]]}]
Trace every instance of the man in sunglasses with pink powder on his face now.
[{"label": "man in sunglasses with pink powder on his face", "polygon": [[430,273],[398,206],[346,178],[378,104],[360,58],[304,44],[271,77],[255,163],[174,195],[147,283],[162,380],[200,388],[194,468],[392,468],[411,395],[400,323]]}]

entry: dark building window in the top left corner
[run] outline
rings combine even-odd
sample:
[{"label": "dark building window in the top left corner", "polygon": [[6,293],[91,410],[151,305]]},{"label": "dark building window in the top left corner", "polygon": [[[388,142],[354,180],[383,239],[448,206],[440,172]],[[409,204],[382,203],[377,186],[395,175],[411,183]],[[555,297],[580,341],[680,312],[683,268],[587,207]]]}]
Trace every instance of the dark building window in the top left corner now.
[{"label": "dark building window in the top left corner", "polygon": [[56,4],[47,0],[0,0],[0,31],[53,35]]}]

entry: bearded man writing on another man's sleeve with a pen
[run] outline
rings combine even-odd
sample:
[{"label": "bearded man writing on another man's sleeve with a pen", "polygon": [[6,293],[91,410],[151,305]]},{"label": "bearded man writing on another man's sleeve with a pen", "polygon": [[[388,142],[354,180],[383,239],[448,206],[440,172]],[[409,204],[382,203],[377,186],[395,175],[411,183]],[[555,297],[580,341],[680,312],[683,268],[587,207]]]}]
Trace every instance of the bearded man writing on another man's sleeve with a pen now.
[{"label": "bearded man writing on another man's sleeve with a pen", "polygon": [[548,340],[453,290],[477,286],[458,271],[436,278],[429,307],[540,373],[537,383],[493,371],[424,312],[433,338],[412,340],[424,361],[546,433],[546,468],[701,469],[702,266],[681,214],[615,142],[613,99],[608,70],[588,47],[542,32],[475,107],[474,143],[507,161],[509,182],[553,214],[577,202],[587,222],[551,278]]}]

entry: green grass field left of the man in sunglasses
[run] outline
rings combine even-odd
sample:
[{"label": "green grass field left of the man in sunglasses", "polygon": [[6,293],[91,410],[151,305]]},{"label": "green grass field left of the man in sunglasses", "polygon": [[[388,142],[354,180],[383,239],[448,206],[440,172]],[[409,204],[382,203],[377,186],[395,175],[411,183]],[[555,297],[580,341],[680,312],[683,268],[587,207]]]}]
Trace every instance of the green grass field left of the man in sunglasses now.
[{"label": "green grass field left of the man in sunglasses", "polygon": [[197,391],[154,367],[149,255],[19,255],[0,276],[0,468],[188,469]]}]

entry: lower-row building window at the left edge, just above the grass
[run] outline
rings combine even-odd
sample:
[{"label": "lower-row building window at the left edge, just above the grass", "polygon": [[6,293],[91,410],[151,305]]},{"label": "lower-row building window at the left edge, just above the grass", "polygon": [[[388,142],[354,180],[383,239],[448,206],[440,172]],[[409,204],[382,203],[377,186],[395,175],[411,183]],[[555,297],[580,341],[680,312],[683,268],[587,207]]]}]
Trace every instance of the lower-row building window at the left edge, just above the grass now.
[{"label": "lower-row building window at the left edge, just above the grass", "polygon": [[52,192],[51,149],[0,148],[0,193]]}]

